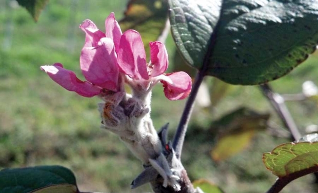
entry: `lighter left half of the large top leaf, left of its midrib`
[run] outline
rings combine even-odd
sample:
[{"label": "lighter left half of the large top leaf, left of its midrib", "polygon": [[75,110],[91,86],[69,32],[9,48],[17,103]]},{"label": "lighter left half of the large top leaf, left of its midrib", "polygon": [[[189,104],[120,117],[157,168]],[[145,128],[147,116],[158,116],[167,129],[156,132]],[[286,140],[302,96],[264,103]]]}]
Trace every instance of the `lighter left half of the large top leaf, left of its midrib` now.
[{"label": "lighter left half of the large top leaf, left of its midrib", "polygon": [[214,2],[220,1],[168,1],[176,46],[187,63],[197,69],[202,67],[220,12],[220,7],[215,6]]}]

